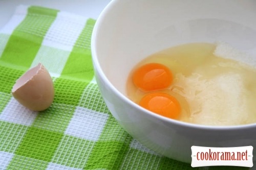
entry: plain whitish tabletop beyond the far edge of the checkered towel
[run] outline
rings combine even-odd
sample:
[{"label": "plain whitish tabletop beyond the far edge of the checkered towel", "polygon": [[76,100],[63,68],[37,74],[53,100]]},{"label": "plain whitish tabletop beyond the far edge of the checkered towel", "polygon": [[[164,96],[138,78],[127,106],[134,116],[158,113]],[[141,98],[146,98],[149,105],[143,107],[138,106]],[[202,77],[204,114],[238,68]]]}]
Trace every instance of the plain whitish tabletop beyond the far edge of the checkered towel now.
[{"label": "plain whitish tabletop beyond the far edge of the checkered towel", "polygon": [[0,29],[8,22],[18,5],[36,5],[97,19],[111,0],[0,0]]}]

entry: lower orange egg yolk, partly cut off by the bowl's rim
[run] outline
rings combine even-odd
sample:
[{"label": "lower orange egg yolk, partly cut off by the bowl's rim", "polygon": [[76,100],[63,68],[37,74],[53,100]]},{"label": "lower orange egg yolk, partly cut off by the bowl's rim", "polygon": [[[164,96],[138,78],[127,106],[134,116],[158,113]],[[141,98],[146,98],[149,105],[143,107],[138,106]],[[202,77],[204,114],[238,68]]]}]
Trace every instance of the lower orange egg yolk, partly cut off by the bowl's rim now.
[{"label": "lower orange egg yolk, partly cut off by the bowl's rim", "polygon": [[139,105],[162,116],[177,119],[181,112],[181,107],[176,98],[172,95],[154,92],[146,94]]}]

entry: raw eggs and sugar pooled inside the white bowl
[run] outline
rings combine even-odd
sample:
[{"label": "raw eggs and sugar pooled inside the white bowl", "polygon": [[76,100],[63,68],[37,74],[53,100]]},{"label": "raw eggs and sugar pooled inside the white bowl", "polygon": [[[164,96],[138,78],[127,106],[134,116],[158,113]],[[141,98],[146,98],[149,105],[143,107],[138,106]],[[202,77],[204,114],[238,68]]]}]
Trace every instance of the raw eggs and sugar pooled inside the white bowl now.
[{"label": "raw eggs and sugar pooled inside the white bowl", "polygon": [[[135,66],[127,79],[127,96],[147,110],[182,122],[207,126],[255,124],[256,62],[251,58],[223,42],[169,47]],[[157,89],[155,83],[167,79],[155,81],[164,74],[153,74],[156,66],[148,63],[163,64],[172,71],[173,81],[167,88]],[[147,72],[150,74],[143,76]]]}]

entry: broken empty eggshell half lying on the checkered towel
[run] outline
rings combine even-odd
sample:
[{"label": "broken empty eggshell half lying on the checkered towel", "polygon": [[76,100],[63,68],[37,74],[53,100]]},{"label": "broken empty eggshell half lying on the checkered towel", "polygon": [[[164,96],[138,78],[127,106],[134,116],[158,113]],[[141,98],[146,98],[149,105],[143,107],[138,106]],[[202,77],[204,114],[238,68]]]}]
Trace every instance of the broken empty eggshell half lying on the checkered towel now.
[{"label": "broken empty eggshell half lying on the checkered towel", "polygon": [[47,109],[53,102],[54,87],[48,70],[39,63],[21,76],[12,88],[13,97],[33,111]]}]

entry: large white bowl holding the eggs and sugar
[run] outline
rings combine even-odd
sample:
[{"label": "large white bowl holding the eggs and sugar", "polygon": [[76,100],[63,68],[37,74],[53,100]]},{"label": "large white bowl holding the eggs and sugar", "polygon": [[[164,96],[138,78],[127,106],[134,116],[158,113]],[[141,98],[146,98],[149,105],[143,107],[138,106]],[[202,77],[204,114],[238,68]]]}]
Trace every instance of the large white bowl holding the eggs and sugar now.
[{"label": "large white bowl holding the eggs and sugar", "polygon": [[147,111],[125,96],[130,70],[170,46],[225,41],[256,57],[255,16],[254,0],[112,1],[96,22],[91,46],[96,81],[113,116],[146,147],[183,162],[190,163],[192,145],[256,148],[256,124],[183,123]]}]

